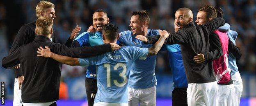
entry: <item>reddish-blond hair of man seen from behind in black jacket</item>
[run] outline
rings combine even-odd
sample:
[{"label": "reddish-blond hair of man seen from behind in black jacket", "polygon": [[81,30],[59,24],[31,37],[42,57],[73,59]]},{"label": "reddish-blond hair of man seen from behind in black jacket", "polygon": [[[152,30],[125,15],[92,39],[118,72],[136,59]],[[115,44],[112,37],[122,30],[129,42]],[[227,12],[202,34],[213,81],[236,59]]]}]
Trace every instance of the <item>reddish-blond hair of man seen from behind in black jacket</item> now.
[{"label": "reddish-blond hair of man seen from behind in black jacket", "polygon": [[36,21],[37,35],[49,35],[53,27],[53,22],[46,18],[38,18]]}]

